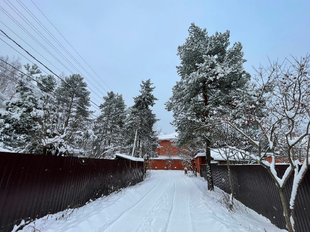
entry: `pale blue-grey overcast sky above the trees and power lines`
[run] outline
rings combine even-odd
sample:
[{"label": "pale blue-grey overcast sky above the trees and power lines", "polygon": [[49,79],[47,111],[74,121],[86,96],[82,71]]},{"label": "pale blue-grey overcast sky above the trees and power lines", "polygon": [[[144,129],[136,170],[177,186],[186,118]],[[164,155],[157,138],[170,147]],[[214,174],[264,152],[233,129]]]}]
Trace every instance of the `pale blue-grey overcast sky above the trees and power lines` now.
[{"label": "pale blue-grey overcast sky above the trees and power lines", "polygon": [[[20,11],[48,41],[69,58],[60,46],[38,26],[33,18],[20,6],[17,0],[0,0],[3,7],[14,19],[37,38],[52,54],[63,61],[55,50],[41,39],[11,8]],[[105,90],[121,93],[126,105],[133,105],[132,97],[139,94],[141,80],[151,79],[156,86],[154,95],[159,100],[153,112],[161,120],[158,126],[163,133],[170,134],[174,128],[169,124],[172,113],[165,110],[164,103],[171,96],[171,88],[179,80],[175,66],[179,65],[176,55],[178,45],[188,37],[192,22],[207,28],[209,35],[216,31],[230,30],[231,45],[240,41],[247,59],[245,70],[254,74],[253,68],[267,65],[271,60],[283,60],[290,54],[300,57],[310,52],[309,12],[310,1],[79,1],[79,0],[33,0],[74,49],[92,67],[95,73],[82,61],[70,45],[47,21],[42,13],[29,0],[21,0],[40,22],[57,38],[99,84],[90,76],[86,82],[96,104]],[[6,4],[8,3],[8,5]],[[1,9],[1,8],[0,8]],[[0,28],[29,50],[38,60],[46,64],[56,74],[71,73],[40,47],[11,19],[0,11],[0,20],[13,32],[0,23]],[[15,49],[16,45],[0,36]],[[45,59],[42,58],[39,52]],[[0,56],[20,57],[23,63],[29,62],[4,42],[0,41]],[[25,55],[27,58],[28,55]],[[32,60],[32,59],[30,59]],[[70,59],[71,61],[71,59]],[[65,63],[65,62],[64,62]],[[76,64],[74,67],[82,69]],[[73,73],[77,73],[68,63]],[[84,72],[82,71],[84,74]],[[108,85],[108,87],[102,82]],[[93,83],[93,85],[90,84]],[[98,88],[100,91],[98,91]],[[96,94],[94,93],[96,92]],[[98,97],[99,95],[100,97]],[[98,102],[99,101],[99,102]]]}]

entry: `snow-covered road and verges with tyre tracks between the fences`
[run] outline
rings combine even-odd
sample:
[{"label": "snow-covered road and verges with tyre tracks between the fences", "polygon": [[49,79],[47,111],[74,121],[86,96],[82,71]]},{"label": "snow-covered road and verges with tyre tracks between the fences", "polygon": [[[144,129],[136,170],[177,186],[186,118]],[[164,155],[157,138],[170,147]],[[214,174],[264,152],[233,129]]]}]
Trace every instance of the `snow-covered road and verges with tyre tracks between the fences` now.
[{"label": "snow-covered road and verges with tyre tracks between the fences", "polygon": [[229,213],[218,202],[222,196],[218,188],[207,191],[203,178],[188,177],[184,171],[157,170],[136,186],[90,202],[71,215],[71,211],[65,213],[66,220],[55,220],[63,214],[56,213],[32,222],[22,231],[286,231],[244,206]]}]

